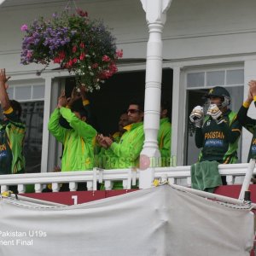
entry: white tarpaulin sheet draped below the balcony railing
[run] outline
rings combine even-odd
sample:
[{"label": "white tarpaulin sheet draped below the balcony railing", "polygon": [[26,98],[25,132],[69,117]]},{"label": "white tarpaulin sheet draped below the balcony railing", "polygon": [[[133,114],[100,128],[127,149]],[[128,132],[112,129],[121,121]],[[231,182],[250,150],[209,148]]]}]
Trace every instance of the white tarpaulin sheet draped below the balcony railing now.
[{"label": "white tarpaulin sheet draped below the balcony railing", "polygon": [[1,256],[243,256],[253,213],[169,185],[72,207],[0,201]]}]

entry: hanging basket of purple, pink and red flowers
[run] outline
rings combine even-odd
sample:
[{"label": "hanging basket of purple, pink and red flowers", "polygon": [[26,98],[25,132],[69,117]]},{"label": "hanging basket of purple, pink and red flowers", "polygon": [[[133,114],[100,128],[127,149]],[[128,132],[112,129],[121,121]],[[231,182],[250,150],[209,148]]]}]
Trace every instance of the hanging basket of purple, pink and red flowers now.
[{"label": "hanging basket of purple, pink and red flowers", "polygon": [[80,9],[76,14],[67,9],[51,20],[41,17],[31,26],[21,26],[21,31],[26,32],[22,64],[56,63],[75,75],[78,86],[85,84],[90,91],[99,90],[117,72],[116,61],[123,55],[102,20],[90,20]]}]

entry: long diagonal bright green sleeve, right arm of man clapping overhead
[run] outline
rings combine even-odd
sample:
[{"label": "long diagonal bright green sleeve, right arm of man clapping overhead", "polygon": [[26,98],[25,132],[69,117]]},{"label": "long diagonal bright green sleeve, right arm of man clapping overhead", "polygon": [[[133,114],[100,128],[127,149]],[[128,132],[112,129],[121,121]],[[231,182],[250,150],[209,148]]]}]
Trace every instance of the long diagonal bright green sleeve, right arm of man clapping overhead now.
[{"label": "long diagonal bright green sleeve, right arm of man clapping overhead", "polygon": [[91,140],[96,137],[96,130],[91,125],[81,121],[69,108],[61,108],[60,113],[85,141],[91,142]]}]

